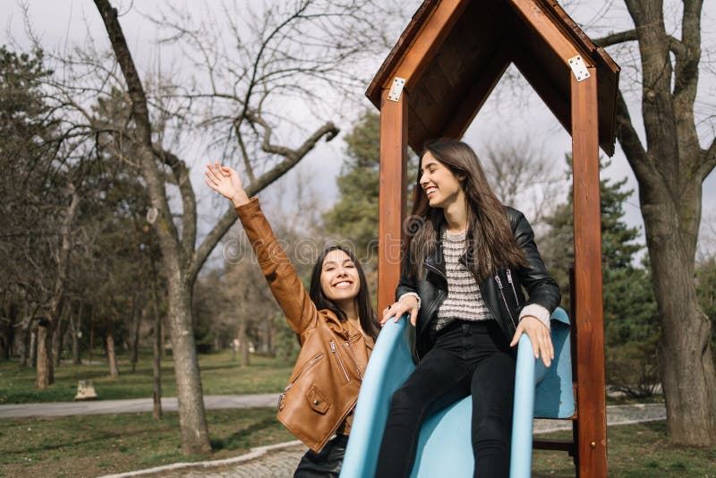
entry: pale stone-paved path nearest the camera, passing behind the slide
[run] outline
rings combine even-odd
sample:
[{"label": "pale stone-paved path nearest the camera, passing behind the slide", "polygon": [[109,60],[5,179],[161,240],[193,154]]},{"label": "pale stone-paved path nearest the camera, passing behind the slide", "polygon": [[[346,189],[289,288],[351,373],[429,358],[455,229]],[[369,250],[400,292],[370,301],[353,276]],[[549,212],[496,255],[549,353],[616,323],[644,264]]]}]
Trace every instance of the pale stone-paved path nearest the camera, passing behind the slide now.
[{"label": "pale stone-paved path nearest the camera, passing behind the slide", "polygon": [[[657,420],[666,420],[664,404],[607,406],[607,424],[609,425],[626,425]],[[535,433],[549,433],[570,428],[571,423],[566,421],[540,419],[534,421]],[[178,463],[131,473],[107,475],[104,478],[129,478],[132,476],[157,478],[290,477],[306,449],[300,441],[290,441],[254,448],[250,453],[241,457],[192,464]]]}]

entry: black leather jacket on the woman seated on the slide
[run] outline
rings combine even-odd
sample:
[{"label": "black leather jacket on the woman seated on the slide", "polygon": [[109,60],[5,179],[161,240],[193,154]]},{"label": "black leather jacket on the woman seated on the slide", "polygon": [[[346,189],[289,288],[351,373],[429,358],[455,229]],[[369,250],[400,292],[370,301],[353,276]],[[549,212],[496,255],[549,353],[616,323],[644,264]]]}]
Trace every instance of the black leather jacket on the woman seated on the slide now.
[{"label": "black leather jacket on the woman seated on the slide", "polygon": [[[494,277],[486,278],[480,284],[480,294],[487,303],[490,312],[499,323],[500,329],[511,341],[515,335],[516,323],[520,311],[530,303],[538,303],[548,311],[554,312],[561,300],[559,287],[544,266],[537,245],[534,243],[532,226],[524,218],[524,214],[516,209],[506,207],[512,232],[517,245],[522,247],[527,257],[527,267],[510,270],[499,269]],[[421,309],[415,330],[415,352],[418,359],[432,348],[429,324],[438,317],[440,304],[447,298],[447,277],[442,243],[439,242],[422,264],[422,279],[418,280],[410,274],[410,260],[403,263],[403,273],[396,289],[396,299],[401,295],[415,292],[420,296]],[[460,261],[467,265],[464,255]],[[468,267],[468,269],[470,269]],[[525,302],[522,288],[527,291],[529,300]]]}]

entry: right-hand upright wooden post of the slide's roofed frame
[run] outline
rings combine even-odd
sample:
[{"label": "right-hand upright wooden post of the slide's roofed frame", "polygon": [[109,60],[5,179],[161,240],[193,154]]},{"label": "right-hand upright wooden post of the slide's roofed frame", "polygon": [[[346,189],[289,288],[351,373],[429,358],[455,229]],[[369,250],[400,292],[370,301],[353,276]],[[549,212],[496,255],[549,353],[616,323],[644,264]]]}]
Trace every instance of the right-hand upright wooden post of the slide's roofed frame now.
[{"label": "right-hand upright wooden post of the slide's roofed frame", "polygon": [[[601,303],[601,212],[597,70],[571,75],[575,201],[575,320],[579,321],[578,476],[607,476],[604,319]],[[589,337],[588,340],[585,337]]]}]

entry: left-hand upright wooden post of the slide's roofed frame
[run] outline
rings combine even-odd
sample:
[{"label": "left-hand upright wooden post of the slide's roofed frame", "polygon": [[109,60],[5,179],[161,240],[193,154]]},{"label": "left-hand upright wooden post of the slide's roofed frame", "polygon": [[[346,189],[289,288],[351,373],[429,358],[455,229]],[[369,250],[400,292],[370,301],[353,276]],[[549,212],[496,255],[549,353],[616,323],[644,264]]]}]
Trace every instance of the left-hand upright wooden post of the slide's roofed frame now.
[{"label": "left-hand upright wooden post of the slide's roofed frame", "polygon": [[395,302],[400,278],[407,189],[408,98],[380,96],[380,194],[378,209],[378,313]]}]

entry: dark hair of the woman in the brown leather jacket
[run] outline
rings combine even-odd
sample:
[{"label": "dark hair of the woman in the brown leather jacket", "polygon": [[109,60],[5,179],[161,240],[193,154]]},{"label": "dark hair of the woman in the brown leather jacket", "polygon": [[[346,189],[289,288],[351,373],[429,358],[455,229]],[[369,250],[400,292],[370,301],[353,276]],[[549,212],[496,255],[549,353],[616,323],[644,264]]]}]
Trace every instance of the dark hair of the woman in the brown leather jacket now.
[{"label": "dark hair of the woman in the brown leather jacket", "polygon": [[361,279],[361,288],[358,289],[358,296],[355,298],[358,303],[358,315],[361,321],[361,328],[368,336],[375,339],[378,337],[379,327],[378,320],[376,319],[373,306],[371,305],[371,293],[368,290],[368,283],[365,280],[365,273],[361,263],[355,260],[353,252],[342,245],[331,245],[323,251],[316,264],[313,266],[313,272],[311,272],[311,286],[309,287],[309,295],[311,301],[316,304],[319,310],[328,309],[329,311],[336,314],[338,320],[345,321],[348,318],[345,316],[345,312],[341,311],[340,307],[336,303],[328,299],[326,294],[323,294],[323,289],[320,286],[320,275],[323,272],[323,260],[326,259],[328,252],[332,251],[343,251],[353,263],[355,269],[358,271],[358,277]]}]

